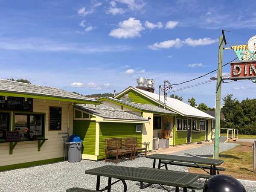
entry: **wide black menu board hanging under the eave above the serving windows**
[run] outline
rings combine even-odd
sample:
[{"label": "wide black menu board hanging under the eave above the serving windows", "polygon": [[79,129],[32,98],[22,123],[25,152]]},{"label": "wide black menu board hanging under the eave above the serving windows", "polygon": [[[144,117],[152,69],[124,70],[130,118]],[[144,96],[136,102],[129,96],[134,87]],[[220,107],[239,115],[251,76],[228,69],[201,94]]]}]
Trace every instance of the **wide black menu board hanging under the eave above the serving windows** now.
[{"label": "wide black menu board hanging under the eave above the serving windows", "polygon": [[25,99],[23,97],[7,97],[7,100],[5,100],[5,96],[0,96],[0,109],[14,111],[32,111],[33,99]]}]

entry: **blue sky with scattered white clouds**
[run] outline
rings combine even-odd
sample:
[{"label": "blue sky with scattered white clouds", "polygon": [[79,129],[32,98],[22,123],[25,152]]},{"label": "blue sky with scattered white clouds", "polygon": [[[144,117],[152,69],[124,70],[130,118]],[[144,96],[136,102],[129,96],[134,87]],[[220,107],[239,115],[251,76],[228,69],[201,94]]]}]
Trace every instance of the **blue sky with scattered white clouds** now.
[{"label": "blue sky with scattered white clouds", "polygon": [[[218,37],[246,44],[255,0],[0,0],[0,78],[82,94],[122,91],[136,78],[179,83],[217,68]],[[224,51],[224,63],[236,55]],[[224,75],[230,67],[223,69]],[[212,73],[214,76],[216,73]],[[173,90],[209,80],[206,76]],[[209,106],[215,82],[174,92]],[[222,95],[255,96],[255,84],[223,84]]]}]

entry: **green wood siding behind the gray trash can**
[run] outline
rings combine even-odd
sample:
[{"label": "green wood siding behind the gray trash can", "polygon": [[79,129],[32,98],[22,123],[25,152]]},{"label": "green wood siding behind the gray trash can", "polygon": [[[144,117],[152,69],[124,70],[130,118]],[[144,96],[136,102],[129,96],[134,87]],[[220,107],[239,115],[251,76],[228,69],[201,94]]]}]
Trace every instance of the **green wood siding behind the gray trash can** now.
[{"label": "green wood siding behind the gray trash can", "polygon": [[95,155],[95,121],[74,121],[73,134],[79,135],[83,140],[83,154]]}]

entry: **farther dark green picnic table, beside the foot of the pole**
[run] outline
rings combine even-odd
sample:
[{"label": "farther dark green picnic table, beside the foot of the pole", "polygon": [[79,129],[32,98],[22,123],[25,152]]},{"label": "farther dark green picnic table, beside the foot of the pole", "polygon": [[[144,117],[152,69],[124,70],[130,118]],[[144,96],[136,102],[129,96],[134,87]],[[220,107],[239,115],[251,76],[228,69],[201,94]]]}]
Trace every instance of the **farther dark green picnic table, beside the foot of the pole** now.
[{"label": "farther dark green picnic table, beside the foot of the pole", "polygon": [[[160,169],[163,166],[166,166],[166,164],[172,165],[172,163],[174,163],[174,165],[189,166],[189,163],[192,163],[192,164],[195,164],[196,167],[201,168],[205,172],[207,172],[201,165],[209,165],[210,173],[209,172],[207,173],[209,173],[210,175],[216,175],[216,166],[224,163],[223,160],[208,159],[208,158],[201,158],[201,157],[187,157],[187,156],[169,155],[169,154],[152,154],[152,155],[148,155],[146,158],[154,159],[153,168],[155,168],[156,160],[158,160],[158,167],[157,167],[158,169]],[[162,160],[169,161],[169,163],[165,162],[165,165],[161,166]],[[182,163],[179,164],[179,162],[184,162],[185,164],[182,164]]]}]

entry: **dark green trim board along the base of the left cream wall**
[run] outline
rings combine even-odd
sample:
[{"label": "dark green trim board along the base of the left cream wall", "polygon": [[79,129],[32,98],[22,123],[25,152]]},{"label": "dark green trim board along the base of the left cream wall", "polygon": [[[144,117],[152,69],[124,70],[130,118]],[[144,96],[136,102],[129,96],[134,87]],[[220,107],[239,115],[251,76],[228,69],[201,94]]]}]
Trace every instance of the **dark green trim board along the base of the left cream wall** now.
[{"label": "dark green trim board along the base of the left cream wall", "polygon": [[46,160],[32,161],[32,162],[26,162],[26,163],[18,163],[18,164],[7,165],[7,166],[0,166],[0,172],[11,170],[11,169],[20,169],[20,168],[26,168],[26,167],[30,167],[30,166],[48,164],[48,163],[56,163],[56,162],[63,161],[63,160],[64,160],[64,157],[58,157],[58,158],[53,158],[53,159],[46,159]]}]

